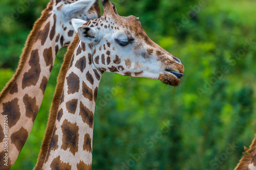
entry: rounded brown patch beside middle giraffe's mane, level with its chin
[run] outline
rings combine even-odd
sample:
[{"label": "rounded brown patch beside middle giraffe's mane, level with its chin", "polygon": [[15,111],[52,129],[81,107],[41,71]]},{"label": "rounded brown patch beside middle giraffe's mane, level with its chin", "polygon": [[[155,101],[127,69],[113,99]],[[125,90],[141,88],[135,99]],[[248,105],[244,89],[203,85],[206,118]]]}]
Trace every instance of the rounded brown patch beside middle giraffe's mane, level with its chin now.
[{"label": "rounded brown patch beside middle giraffe's mane, level with its chin", "polygon": [[71,74],[67,77],[67,83],[68,94],[73,94],[79,91],[80,80],[79,77],[76,74],[74,74],[74,72],[71,72]]}]

